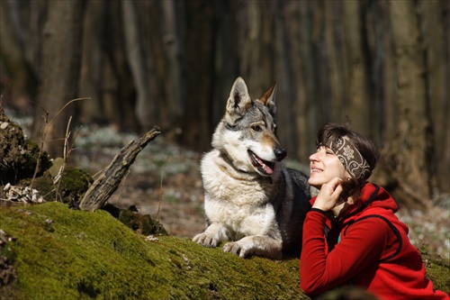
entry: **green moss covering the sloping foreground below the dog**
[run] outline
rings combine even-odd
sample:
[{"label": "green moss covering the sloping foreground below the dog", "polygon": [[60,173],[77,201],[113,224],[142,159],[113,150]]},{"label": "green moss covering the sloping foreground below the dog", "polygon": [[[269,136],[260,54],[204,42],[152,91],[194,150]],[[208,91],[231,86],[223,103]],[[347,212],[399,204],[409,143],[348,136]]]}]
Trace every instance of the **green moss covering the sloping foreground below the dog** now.
[{"label": "green moss covering the sloping foreground below the dog", "polygon": [[[61,203],[1,207],[0,224],[17,238],[0,247],[18,277],[0,287],[5,298],[308,299],[299,287],[298,259],[240,259],[170,236],[145,241],[103,210]],[[433,263],[430,270],[448,280],[448,266]],[[450,290],[448,281],[435,286]]]}]

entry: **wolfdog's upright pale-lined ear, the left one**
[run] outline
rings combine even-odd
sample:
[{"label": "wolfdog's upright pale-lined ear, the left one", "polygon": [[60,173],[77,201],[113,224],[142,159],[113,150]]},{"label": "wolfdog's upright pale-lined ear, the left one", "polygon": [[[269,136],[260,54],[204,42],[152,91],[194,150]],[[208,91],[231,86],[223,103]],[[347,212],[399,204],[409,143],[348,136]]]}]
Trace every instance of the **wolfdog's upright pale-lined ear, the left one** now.
[{"label": "wolfdog's upright pale-lined ear, the left one", "polygon": [[231,117],[234,117],[235,114],[241,116],[245,114],[247,108],[251,104],[252,100],[248,94],[246,82],[241,77],[238,77],[231,87],[231,92],[229,93],[227,114]]}]

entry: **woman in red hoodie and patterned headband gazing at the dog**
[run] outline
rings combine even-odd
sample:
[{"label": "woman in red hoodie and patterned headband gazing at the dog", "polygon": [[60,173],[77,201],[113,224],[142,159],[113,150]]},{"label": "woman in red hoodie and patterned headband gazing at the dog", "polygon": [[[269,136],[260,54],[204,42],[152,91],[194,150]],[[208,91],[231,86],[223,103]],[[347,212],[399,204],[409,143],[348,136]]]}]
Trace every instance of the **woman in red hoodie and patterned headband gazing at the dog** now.
[{"label": "woman in red hoodie and patterned headband gazing at the dog", "polygon": [[380,299],[449,299],[425,277],[419,250],[399,221],[394,199],[366,182],[374,143],[328,123],[317,135],[309,183],[320,189],[303,224],[300,277],[307,295],[356,286]]}]

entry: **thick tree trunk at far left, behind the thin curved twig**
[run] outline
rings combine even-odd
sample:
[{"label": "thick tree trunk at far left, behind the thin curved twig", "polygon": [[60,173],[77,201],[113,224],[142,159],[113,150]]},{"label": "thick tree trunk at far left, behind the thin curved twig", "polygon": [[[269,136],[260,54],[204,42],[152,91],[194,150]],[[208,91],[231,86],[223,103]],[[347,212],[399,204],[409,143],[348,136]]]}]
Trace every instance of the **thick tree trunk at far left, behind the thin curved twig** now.
[{"label": "thick tree trunk at far left, behind the thin curved twig", "polygon": [[60,114],[58,111],[76,98],[78,91],[82,6],[83,0],[49,2],[44,29],[38,104],[49,113],[49,118],[44,121],[42,110],[35,110],[32,137],[40,141],[41,134],[45,134],[44,150],[54,158],[63,154],[69,117],[76,119],[74,105],[68,105]]}]

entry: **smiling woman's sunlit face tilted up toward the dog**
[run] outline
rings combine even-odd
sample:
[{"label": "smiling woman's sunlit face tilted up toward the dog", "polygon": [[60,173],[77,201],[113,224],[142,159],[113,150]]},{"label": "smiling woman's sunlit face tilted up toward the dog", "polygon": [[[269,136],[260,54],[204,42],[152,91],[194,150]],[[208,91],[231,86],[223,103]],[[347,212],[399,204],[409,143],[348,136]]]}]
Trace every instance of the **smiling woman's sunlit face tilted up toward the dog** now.
[{"label": "smiling woman's sunlit face tilted up toward the dog", "polygon": [[310,171],[308,183],[317,188],[328,183],[334,177],[343,180],[350,177],[335,153],[325,146],[320,146],[315,153],[311,154]]}]

